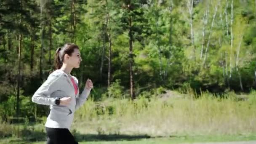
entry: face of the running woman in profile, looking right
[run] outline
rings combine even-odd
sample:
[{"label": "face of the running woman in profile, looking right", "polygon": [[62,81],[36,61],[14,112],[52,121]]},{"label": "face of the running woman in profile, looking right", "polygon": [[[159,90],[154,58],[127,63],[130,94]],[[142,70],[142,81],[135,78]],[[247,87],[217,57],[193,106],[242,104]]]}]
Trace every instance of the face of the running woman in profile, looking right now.
[{"label": "face of the running woman in profile, looking right", "polygon": [[70,67],[79,68],[80,62],[82,61],[79,49],[75,48],[71,56],[66,54],[66,62]]}]

